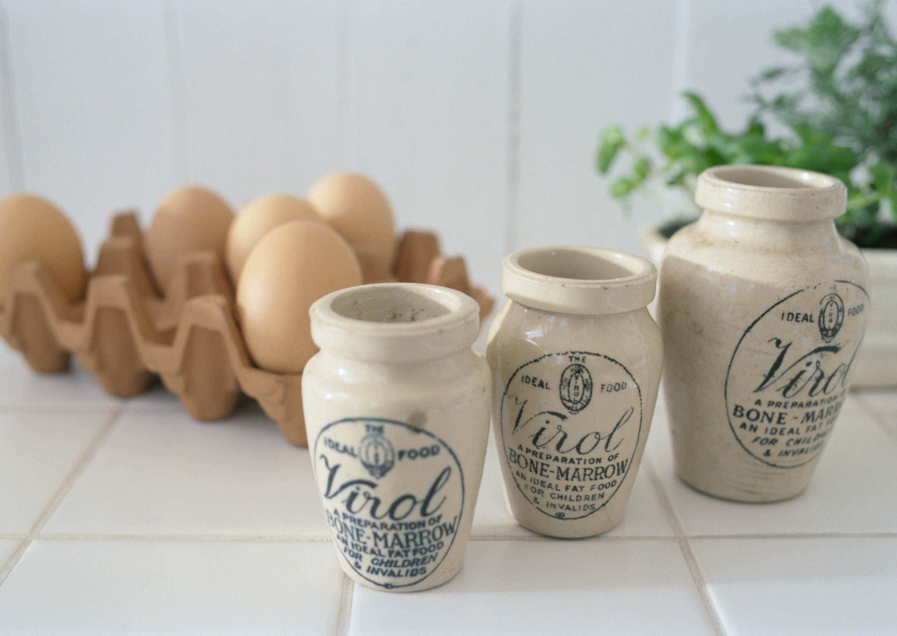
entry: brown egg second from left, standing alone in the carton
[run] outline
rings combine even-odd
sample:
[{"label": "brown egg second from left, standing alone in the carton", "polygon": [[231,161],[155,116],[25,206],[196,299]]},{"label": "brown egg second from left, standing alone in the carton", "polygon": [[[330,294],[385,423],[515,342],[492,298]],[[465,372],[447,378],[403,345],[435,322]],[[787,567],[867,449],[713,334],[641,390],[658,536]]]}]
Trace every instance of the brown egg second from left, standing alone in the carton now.
[{"label": "brown egg second from left, standing alone in the carton", "polygon": [[166,196],[146,232],[146,257],[162,293],[174,278],[181,256],[212,250],[224,262],[231,207],[202,187],[179,188]]}]

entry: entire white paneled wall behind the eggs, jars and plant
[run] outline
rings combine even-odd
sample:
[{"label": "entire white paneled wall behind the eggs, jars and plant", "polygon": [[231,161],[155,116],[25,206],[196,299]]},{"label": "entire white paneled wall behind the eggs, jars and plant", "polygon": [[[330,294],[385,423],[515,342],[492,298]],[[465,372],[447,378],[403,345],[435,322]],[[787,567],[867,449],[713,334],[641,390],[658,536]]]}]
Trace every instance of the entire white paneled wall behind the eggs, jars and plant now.
[{"label": "entire white paneled wall behind the eggs, jars and plant", "polygon": [[[852,2],[837,3],[855,15]],[[499,293],[529,245],[639,252],[594,170],[605,125],[683,115],[699,90],[744,124],[771,31],[813,0],[0,0],[0,195],[144,223],[172,188],[235,208],[339,169],[378,181]],[[893,7],[891,7],[893,10]],[[893,11],[891,12],[893,13]]]}]

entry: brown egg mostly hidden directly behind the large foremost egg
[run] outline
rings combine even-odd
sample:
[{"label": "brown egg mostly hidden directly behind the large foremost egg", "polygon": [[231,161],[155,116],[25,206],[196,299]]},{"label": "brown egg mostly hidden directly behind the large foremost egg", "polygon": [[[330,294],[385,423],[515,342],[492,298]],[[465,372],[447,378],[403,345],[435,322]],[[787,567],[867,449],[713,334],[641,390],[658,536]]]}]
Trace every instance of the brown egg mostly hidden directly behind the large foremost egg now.
[{"label": "brown egg mostly hidden directly behind the large foremost egg", "polygon": [[231,280],[239,280],[252,248],[272,229],[288,221],[321,221],[311,204],[292,194],[265,194],[244,205],[227,234],[227,267]]}]

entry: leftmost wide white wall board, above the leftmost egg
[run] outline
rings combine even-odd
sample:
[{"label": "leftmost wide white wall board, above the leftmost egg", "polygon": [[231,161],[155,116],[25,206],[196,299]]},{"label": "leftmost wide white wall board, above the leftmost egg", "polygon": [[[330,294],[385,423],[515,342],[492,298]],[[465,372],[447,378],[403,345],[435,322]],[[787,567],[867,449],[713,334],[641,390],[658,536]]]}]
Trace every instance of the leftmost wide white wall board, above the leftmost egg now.
[{"label": "leftmost wide white wall board, above the leftmost egg", "polygon": [[112,211],[150,209],[179,179],[165,7],[4,0],[4,10],[16,186],[57,202],[95,253]]}]

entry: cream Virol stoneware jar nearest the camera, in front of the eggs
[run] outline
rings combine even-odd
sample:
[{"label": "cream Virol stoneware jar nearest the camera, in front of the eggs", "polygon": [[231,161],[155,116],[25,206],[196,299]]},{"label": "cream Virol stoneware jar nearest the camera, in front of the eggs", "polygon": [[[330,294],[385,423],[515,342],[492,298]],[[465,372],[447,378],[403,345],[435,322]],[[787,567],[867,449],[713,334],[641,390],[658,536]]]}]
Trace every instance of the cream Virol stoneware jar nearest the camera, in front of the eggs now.
[{"label": "cream Virol stoneware jar nearest the camera, in front of the eggs", "polygon": [[344,572],[414,591],[461,568],[483,477],[489,366],[479,307],[453,289],[383,283],[309,310],[309,451]]}]

